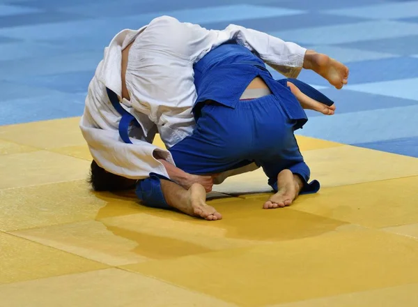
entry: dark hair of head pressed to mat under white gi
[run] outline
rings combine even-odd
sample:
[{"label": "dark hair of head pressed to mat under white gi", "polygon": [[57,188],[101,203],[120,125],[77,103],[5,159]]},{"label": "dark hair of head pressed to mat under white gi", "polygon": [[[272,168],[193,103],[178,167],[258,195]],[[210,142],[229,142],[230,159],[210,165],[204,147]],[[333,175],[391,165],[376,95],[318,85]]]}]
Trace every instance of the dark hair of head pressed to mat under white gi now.
[{"label": "dark hair of head pressed to mat under white gi", "polygon": [[91,184],[93,190],[97,191],[130,190],[134,188],[137,183],[134,179],[128,179],[107,172],[107,170],[100,167],[95,160],[91,161],[90,175],[88,176],[87,181]]}]

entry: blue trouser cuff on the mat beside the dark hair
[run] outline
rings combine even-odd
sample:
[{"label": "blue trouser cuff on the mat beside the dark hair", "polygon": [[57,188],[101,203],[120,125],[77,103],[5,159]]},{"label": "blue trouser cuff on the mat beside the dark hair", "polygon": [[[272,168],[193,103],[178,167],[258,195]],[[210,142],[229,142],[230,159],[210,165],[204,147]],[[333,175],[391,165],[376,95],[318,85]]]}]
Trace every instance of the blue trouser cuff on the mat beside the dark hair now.
[{"label": "blue trouser cuff on the mat beside the dark hair", "polygon": [[161,179],[171,181],[167,177],[155,173],[150,173],[150,177],[138,181],[135,194],[147,207],[170,208],[162,194]]}]

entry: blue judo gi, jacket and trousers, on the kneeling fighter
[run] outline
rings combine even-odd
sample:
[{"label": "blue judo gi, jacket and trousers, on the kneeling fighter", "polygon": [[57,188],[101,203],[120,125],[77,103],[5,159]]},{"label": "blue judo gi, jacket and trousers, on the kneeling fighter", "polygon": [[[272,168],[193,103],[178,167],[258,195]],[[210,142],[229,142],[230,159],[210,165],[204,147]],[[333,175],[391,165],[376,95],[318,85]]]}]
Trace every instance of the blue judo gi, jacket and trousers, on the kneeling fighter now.
[{"label": "blue judo gi, jacket and trousers, on the kneeling fighter", "polygon": [[[276,191],[277,175],[285,169],[302,179],[301,194],[319,190],[318,181],[309,184],[310,170],[294,135],[307,122],[307,115],[287,87],[287,80],[274,80],[261,59],[233,42],[206,54],[195,64],[194,73],[198,94],[193,108],[196,128],[169,149],[177,167],[189,174],[216,174],[255,162]],[[271,94],[240,100],[256,77],[264,80]],[[318,99],[320,93],[316,90],[293,81],[304,93]],[[325,96],[320,98],[332,104]],[[120,127],[121,137],[125,130],[127,126]],[[167,208],[160,179],[167,178],[150,174],[138,182],[136,193],[150,207]]]}]

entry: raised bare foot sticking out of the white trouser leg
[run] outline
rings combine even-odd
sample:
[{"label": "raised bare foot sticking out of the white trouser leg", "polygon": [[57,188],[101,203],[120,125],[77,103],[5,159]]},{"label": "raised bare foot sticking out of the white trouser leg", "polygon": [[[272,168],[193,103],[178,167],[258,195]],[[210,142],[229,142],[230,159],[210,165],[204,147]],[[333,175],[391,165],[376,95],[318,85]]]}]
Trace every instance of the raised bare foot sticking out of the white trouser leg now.
[{"label": "raised bare foot sticking out of the white trouser leg", "polygon": [[344,84],[348,83],[348,74],[350,73],[348,67],[326,54],[308,50],[305,55],[304,68],[314,70],[336,89],[342,89]]}]

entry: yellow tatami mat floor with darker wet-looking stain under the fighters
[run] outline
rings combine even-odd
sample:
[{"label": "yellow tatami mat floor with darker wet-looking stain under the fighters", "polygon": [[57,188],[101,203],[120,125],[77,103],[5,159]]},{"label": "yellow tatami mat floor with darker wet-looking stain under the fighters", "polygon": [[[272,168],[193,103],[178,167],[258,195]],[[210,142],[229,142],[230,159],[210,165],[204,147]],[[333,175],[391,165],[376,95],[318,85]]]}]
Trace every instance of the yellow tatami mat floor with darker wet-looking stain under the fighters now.
[{"label": "yellow tatami mat floor with darker wet-looking stain under the fighters", "polygon": [[318,194],[256,170],[208,222],[91,191],[78,121],[0,127],[0,306],[417,306],[417,158],[297,137]]}]

